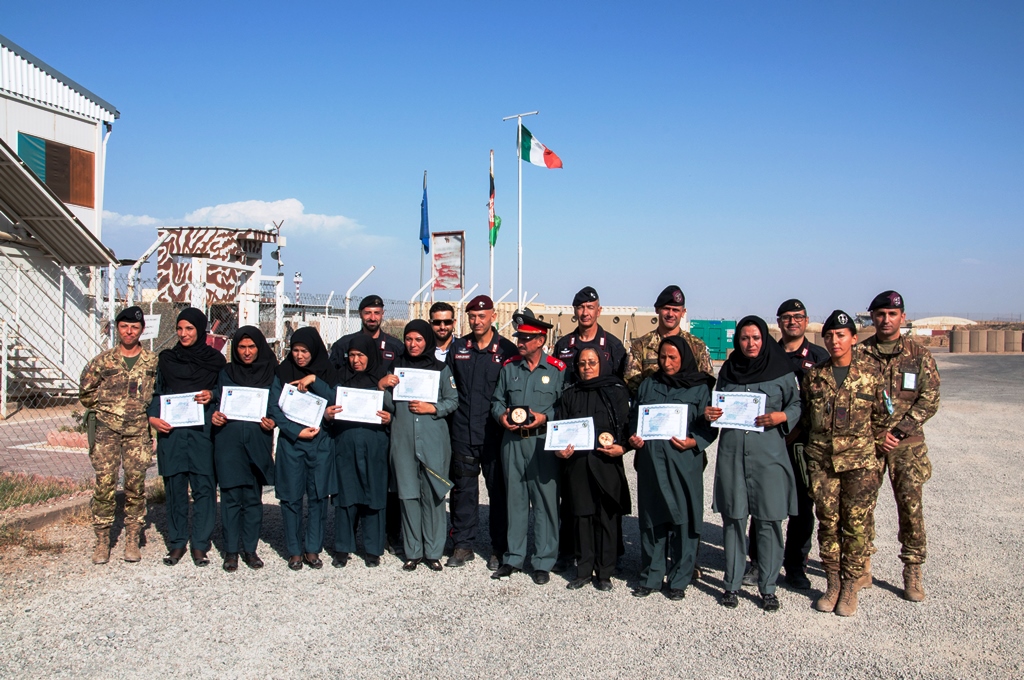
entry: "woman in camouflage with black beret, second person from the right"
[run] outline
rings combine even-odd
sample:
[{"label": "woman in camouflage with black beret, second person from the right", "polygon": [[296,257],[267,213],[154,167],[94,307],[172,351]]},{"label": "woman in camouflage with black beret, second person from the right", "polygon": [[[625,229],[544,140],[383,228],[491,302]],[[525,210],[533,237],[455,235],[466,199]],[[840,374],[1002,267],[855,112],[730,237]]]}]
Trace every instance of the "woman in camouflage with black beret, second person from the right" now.
[{"label": "woman in camouflage with black beret, second person from the right", "polygon": [[857,592],[871,580],[866,567],[884,465],[876,430],[887,414],[882,375],[854,351],[853,318],[837,309],[821,332],[830,360],[810,369],[801,387],[804,455],[828,583],[814,607],[850,617],[857,611]]}]

